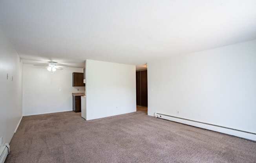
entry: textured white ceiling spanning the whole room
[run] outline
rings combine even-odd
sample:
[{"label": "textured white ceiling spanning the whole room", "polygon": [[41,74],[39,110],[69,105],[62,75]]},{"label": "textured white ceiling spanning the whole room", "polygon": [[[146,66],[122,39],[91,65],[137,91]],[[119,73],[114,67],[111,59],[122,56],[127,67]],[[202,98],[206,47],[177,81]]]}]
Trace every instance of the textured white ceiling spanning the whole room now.
[{"label": "textured white ceiling spanning the whole room", "polygon": [[1,0],[26,60],[143,65],[256,38],[256,0]]}]

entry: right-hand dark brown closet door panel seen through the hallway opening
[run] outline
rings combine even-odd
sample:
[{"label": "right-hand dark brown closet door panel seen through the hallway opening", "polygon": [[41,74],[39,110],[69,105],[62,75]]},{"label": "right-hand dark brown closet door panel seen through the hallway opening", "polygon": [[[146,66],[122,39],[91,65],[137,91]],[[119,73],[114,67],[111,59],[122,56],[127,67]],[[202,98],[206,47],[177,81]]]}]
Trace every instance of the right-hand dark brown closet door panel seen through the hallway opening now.
[{"label": "right-hand dark brown closet door panel seen through the hallway opening", "polygon": [[148,71],[141,71],[141,106],[148,106]]}]

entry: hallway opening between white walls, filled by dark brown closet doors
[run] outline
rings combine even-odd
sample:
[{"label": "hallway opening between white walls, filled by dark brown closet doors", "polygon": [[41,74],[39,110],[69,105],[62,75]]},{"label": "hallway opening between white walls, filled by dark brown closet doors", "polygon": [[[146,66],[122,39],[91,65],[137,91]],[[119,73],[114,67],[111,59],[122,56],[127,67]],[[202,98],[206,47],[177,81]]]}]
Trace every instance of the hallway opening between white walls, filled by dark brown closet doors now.
[{"label": "hallway opening between white walls, filled by dark brown closet doors", "polygon": [[136,103],[137,111],[148,111],[148,71],[136,71]]}]

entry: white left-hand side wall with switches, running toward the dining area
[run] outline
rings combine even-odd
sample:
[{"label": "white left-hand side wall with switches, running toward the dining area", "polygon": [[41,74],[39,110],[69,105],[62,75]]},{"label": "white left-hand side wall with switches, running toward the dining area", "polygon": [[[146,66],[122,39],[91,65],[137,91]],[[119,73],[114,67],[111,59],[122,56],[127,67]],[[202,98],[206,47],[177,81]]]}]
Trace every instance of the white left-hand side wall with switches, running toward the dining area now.
[{"label": "white left-hand side wall with switches, running toward the dining area", "polygon": [[22,62],[1,29],[0,92],[0,137],[9,143],[22,118]]}]

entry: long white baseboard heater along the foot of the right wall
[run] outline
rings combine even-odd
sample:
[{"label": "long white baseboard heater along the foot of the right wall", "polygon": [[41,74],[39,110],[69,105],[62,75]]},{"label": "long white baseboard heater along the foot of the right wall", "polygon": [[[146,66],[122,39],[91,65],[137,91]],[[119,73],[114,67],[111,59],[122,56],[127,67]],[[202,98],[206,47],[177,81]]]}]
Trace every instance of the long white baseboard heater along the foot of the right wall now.
[{"label": "long white baseboard heater along the foot of the right wall", "polygon": [[157,112],[155,113],[155,117],[156,118],[162,118],[162,119],[165,119],[165,120],[175,121],[175,122],[178,122],[178,123],[183,123],[183,124],[186,124],[186,125],[191,125],[191,126],[195,126],[195,127],[199,127],[199,128],[203,128],[203,129],[207,129],[207,130],[217,131],[217,132],[221,132],[221,133],[224,133],[224,134],[229,134],[229,135],[232,135],[232,136],[237,136],[237,137],[240,137],[240,138],[249,139],[249,140],[252,140],[252,141],[256,141],[256,133],[254,133],[254,132],[232,129],[232,128],[229,128],[229,127],[213,125],[213,124],[204,123],[204,122],[200,122],[200,121],[188,120],[188,119],[185,119],[185,118],[170,116],[170,115],[161,114],[161,113],[157,113]]}]

